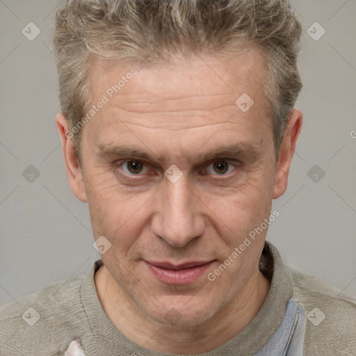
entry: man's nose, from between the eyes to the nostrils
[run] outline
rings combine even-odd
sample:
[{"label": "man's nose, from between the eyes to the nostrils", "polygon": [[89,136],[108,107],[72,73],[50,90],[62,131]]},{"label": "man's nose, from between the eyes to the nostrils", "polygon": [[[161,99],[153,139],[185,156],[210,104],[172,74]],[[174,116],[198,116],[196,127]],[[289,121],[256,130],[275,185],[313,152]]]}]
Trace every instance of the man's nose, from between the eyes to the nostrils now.
[{"label": "man's nose, from between the eyes to the nostrils", "polygon": [[204,233],[202,202],[184,175],[175,183],[165,179],[155,203],[152,232],[170,245],[184,247]]}]

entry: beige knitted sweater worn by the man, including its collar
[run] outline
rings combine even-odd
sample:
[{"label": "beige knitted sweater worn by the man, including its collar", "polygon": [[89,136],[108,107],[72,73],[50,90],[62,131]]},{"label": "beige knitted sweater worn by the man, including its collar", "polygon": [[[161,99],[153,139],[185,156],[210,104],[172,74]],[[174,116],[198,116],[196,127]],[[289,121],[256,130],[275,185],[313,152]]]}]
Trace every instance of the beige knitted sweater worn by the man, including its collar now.
[{"label": "beige knitted sweater worn by the man, including its collar", "polygon": [[[0,356],[64,355],[73,339],[79,340],[86,356],[172,355],[133,343],[111,323],[95,289],[94,275],[100,264],[101,260],[95,261],[84,277],[50,284],[3,307]],[[355,298],[312,275],[283,266],[280,253],[268,242],[260,269],[271,280],[271,286],[257,316],[223,346],[200,355],[265,355],[261,349],[282,325],[291,298],[307,316],[302,355],[356,355]],[[270,351],[268,355],[280,353]],[[296,354],[290,351],[282,355]]]}]

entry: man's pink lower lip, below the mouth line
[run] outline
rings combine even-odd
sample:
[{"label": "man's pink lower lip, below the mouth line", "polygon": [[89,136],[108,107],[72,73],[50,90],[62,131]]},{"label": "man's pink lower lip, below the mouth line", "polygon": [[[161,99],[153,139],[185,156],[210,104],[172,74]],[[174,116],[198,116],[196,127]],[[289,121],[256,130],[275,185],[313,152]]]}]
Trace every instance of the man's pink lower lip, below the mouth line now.
[{"label": "man's pink lower lip, below the mouth line", "polygon": [[202,275],[207,271],[207,269],[213,264],[214,261],[211,261],[207,264],[201,266],[195,266],[191,268],[184,268],[181,270],[170,270],[166,268],[161,268],[153,266],[146,262],[147,266],[151,272],[155,275],[157,280],[165,284],[176,284],[184,285],[191,284],[199,280]]}]

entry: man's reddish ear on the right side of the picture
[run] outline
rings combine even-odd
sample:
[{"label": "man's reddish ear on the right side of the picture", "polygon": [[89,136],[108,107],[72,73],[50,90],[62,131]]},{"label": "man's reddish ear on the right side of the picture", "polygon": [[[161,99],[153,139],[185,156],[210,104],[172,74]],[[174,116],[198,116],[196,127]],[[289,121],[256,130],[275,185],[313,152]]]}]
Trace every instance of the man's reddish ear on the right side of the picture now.
[{"label": "man's reddish ear on the right side of the picture", "polygon": [[276,166],[273,199],[280,197],[286,191],[289,168],[291,167],[291,161],[301,129],[302,112],[298,108],[295,108],[289,115],[288,124],[284,131],[284,138],[280,147],[280,155]]}]

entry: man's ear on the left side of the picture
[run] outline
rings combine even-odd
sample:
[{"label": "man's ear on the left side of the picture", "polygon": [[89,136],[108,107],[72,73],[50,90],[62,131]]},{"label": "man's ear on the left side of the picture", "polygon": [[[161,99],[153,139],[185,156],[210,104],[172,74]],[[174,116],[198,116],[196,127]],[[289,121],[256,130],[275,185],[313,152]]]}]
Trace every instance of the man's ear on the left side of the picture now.
[{"label": "man's ear on the left side of the picture", "polygon": [[82,202],[88,202],[86,191],[84,189],[83,172],[79,167],[76,151],[71,138],[73,133],[68,131],[67,120],[63,114],[59,113],[56,116],[56,124],[58,127],[60,140],[62,140],[62,152],[65,161],[65,169],[67,170],[68,179],[70,181],[70,188],[74,195]]}]

